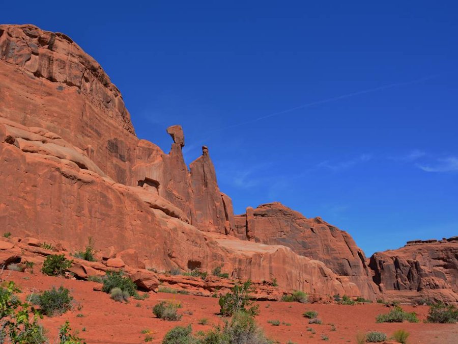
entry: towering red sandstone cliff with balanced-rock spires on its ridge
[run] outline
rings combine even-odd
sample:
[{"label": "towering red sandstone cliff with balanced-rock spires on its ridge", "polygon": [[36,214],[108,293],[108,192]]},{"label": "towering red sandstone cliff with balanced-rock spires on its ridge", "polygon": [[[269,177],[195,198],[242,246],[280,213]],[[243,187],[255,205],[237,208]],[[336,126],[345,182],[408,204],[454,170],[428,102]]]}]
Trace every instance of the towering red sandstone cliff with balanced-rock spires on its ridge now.
[{"label": "towering red sandstone cliff with balanced-rock spires on its ridge", "polygon": [[[66,35],[0,25],[5,231],[59,242],[67,250],[80,249],[92,236],[100,252],[129,250],[138,267],[222,265],[234,278],[276,278],[284,289],[322,296],[375,299],[376,283],[389,291],[394,277],[383,271],[391,269],[390,259],[371,258],[373,272],[351,236],[320,218],[306,219],[279,203],[235,217],[207,147],[188,169],[181,127],[167,132],[173,139],[168,154],[139,140],[119,90]],[[410,276],[406,269],[400,270]],[[436,270],[442,289],[456,285],[453,272],[442,276]],[[411,290],[416,280],[407,279],[409,284],[397,285]],[[456,290],[448,289],[448,300],[456,300]]]}]

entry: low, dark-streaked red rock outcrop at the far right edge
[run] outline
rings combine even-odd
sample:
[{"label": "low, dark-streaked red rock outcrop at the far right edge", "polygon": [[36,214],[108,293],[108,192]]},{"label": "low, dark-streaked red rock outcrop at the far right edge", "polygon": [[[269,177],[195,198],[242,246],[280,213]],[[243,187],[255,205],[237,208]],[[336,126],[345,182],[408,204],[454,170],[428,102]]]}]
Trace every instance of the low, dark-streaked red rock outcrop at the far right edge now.
[{"label": "low, dark-streaked red rock outcrop at the far right edge", "polygon": [[414,242],[371,256],[374,282],[391,299],[458,302],[458,241]]}]

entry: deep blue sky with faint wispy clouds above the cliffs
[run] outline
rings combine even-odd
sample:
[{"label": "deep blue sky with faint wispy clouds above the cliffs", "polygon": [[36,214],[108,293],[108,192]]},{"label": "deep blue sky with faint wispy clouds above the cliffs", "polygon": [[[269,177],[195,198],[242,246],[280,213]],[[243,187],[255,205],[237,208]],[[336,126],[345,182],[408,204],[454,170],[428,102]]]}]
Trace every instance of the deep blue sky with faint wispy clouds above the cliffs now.
[{"label": "deep blue sky with faint wispy clouds above the cliffs", "polygon": [[[209,146],[236,213],[280,201],[367,255],[458,234],[456,2],[5,2],[121,89],[136,133]],[[289,111],[290,109],[293,109]],[[275,114],[275,115],[274,115]]]}]

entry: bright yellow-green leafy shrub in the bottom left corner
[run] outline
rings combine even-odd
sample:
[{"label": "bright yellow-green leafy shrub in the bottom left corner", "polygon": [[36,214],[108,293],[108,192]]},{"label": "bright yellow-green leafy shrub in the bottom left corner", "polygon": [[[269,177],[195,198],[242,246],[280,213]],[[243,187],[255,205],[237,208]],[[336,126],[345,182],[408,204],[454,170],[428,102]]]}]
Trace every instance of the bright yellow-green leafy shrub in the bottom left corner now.
[{"label": "bright yellow-green leafy shrub in the bottom left corner", "polygon": [[38,324],[39,314],[16,296],[20,293],[14,282],[0,287],[0,342],[42,344],[48,342],[44,329]]}]

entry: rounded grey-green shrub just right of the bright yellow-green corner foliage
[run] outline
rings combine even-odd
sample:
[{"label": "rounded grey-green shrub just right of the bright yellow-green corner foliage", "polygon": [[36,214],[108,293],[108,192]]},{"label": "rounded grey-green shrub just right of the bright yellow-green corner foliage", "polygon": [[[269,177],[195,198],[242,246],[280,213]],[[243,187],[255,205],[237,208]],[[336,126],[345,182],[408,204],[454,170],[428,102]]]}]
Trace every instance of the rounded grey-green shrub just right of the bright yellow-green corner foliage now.
[{"label": "rounded grey-green shrub just right of the bright yellow-green corner foliage", "polygon": [[72,308],[73,297],[69,290],[62,285],[59,289],[52,287],[41,294],[34,294],[29,298],[30,302],[40,306],[40,311],[47,316],[60,315]]}]

